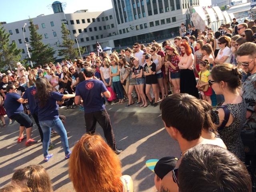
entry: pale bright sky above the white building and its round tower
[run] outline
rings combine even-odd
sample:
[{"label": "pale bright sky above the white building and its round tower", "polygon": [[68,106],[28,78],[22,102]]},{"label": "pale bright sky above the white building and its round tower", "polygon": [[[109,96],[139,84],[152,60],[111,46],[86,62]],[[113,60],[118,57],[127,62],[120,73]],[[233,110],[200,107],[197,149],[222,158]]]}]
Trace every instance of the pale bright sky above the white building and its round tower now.
[{"label": "pale bright sky above the white building and its round tower", "polygon": [[[0,0],[0,22],[15,22],[34,18],[40,14],[53,14],[47,6],[54,0]],[[90,12],[103,11],[112,8],[111,0],[60,0],[66,2],[65,13],[88,9]],[[93,2],[93,3],[92,3]]]}]

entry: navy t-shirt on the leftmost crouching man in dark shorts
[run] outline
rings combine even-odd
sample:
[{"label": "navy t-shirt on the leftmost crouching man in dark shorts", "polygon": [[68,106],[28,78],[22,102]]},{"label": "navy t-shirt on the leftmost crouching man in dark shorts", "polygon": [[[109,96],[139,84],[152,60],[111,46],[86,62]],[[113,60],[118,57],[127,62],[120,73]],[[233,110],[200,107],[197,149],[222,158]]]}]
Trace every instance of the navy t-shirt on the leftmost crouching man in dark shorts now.
[{"label": "navy t-shirt on the leftmost crouching man in dark shorts", "polygon": [[4,100],[4,107],[8,117],[23,112],[23,106],[17,100],[20,96],[17,93],[6,93],[6,99]]}]

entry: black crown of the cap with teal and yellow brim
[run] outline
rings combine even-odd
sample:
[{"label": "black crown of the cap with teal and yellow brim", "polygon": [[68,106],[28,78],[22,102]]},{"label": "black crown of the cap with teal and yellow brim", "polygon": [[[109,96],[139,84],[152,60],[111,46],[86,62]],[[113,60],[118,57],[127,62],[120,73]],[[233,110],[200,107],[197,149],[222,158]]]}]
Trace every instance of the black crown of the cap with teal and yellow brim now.
[{"label": "black crown of the cap with teal and yellow brim", "polygon": [[175,168],[177,162],[178,158],[176,157],[163,157],[156,163],[154,172],[159,178],[163,179],[168,172]]}]

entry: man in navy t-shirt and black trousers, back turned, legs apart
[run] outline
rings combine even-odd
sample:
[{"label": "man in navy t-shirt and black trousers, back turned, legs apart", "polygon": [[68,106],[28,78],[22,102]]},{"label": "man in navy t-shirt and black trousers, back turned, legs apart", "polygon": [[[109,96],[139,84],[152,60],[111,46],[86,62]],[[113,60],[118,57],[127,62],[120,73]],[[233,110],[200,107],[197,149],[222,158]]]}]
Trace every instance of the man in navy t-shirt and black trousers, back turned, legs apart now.
[{"label": "man in navy t-shirt and black trousers, back turned, legs apart", "polygon": [[110,97],[110,92],[106,89],[104,83],[100,80],[93,79],[94,70],[90,67],[84,69],[85,81],[76,86],[75,103],[81,104],[81,98],[84,104],[84,119],[86,123],[86,132],[94,133],[96,123],[98,122],[103,128],[104,136],[108,145],[120,154],[121,150],[116,148],[114,132],[112,130],[108,112],[105,109],[101,94],[106,98]]}]

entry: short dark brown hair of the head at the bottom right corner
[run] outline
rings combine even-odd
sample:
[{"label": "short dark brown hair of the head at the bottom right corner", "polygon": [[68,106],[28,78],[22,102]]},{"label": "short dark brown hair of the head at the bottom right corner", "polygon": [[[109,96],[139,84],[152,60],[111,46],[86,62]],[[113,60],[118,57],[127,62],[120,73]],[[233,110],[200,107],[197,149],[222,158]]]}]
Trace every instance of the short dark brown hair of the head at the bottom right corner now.
[{"label": "short dark brown hair of the head at the bottom right corner", "polygon": [[178,169],[180,192],[252,192],[246,166],[236,155],[211,144],[184,154]]}]

